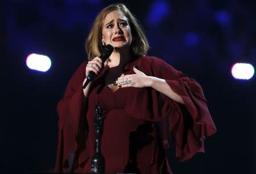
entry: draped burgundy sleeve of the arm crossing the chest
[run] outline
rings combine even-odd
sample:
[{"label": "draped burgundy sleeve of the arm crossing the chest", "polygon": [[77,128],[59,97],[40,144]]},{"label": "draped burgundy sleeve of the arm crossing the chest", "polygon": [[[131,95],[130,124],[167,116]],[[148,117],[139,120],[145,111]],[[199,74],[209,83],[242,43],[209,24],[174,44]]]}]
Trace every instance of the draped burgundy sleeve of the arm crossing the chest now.
[{"label": "draped burgundy sleeve of the arm crossing the chest", "polygon": [[[154,89],[139,89],[138,96],[129,94],[126,112],[132,117],[157,122],[165,147],[168,140],[176,146],[176,158],[184,161],[204,152],[204,140],[216,132],[203,89],[192,78],[156,57],[144,57],[134,63],[148,76],[166,80],[184,105]],[[138,98],[142,98],[139,100]]]}]

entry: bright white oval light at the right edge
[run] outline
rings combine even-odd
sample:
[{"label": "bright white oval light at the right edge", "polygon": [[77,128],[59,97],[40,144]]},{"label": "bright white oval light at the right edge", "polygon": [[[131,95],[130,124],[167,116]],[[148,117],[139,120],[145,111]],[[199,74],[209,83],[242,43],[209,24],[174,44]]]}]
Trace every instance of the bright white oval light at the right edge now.
[{"label": "bright white oval light at the right edge", "polygon": [[238,80],[249,80],[254,75],[254,67],[247,63],[236,63],[232,66],[231,73]]}]

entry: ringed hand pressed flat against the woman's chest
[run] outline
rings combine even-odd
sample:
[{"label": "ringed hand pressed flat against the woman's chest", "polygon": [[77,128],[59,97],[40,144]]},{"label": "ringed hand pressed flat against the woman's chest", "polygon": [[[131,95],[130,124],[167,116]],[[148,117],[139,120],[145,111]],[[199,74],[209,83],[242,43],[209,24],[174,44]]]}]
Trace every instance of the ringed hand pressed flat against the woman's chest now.
[{"label": "ringed hand pressed flat against the woman's chest", "polygon": [[150,86],[150,77],[133,67],[135,74],[127,74],[121,76],[115,81],[115,84],[120,88],[135,87],[145,88]]}]

